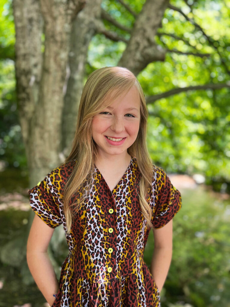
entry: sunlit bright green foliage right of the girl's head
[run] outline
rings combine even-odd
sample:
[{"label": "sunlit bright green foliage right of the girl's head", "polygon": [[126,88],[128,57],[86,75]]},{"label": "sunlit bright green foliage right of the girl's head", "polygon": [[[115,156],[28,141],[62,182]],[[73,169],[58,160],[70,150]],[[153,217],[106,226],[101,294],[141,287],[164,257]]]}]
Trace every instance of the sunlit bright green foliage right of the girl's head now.
[{"label": "sunlit bright green foliage right of the girl's head", "polygon": [[[210,53],[210,56],[167,53],[165,62],[151,63],[139,74],[146,95],[174,87],[228,81],[229,8],[222,1],[201,2],[201,5],[199,2],[199,6],[194,2],[193,14],[184,1],[170,3],[200,25],[207,37],[194,22],[186,21],[178,11],[167,9],[159,32],[181,39],[160,35],[155,37],[157,43],[170,50]],[[220,185],[215,185],[219,190],[223,182],[229,183],[229,98],[229,88],[225,88],[188,91],[150,104],[148,146],[153,161],[174,172],[202,173],[209,184],[219,181]]]}]

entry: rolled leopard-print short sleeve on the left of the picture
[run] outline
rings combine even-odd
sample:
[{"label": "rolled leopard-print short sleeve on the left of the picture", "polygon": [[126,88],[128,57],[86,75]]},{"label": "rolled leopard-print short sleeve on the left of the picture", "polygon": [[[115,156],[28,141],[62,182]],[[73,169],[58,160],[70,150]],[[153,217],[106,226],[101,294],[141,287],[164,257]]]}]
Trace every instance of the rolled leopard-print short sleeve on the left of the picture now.
[{"label": "rolled leopard-print short sleeve on the left of the picture", "polygon": [[30,207],[48,226],[56,228],[62,224],[56,189],[53,186],[52,174],[46,175],[43,181],[29,190]]}]

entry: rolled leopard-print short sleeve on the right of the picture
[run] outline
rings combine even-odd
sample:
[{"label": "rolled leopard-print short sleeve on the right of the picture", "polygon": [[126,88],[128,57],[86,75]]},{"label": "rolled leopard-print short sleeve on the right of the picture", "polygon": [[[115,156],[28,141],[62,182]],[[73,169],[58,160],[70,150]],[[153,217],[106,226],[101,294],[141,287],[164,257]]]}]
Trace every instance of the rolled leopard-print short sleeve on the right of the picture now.
[{"label": "rolled leopard-print short sleeve on the right of the picture", "polygon": [[157,176],[157,196],[152,224],[154,228],[165,226],[181,208],[181,193],[172,185],[169,177],[160,169]]}]

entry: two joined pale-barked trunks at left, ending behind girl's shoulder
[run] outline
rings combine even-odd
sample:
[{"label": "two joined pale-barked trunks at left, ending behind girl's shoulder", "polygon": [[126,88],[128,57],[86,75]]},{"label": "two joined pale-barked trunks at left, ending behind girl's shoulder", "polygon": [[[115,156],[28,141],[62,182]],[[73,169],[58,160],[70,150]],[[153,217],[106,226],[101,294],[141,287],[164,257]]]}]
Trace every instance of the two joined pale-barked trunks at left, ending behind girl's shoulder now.
[{"label": "two joined pale-barked trunks at left, ending behind girl's shoulder", "polygon": [[63,162],[63,85],[71,25],[83,4],[82,0],[13,1],[18,110],[32,186]]}]

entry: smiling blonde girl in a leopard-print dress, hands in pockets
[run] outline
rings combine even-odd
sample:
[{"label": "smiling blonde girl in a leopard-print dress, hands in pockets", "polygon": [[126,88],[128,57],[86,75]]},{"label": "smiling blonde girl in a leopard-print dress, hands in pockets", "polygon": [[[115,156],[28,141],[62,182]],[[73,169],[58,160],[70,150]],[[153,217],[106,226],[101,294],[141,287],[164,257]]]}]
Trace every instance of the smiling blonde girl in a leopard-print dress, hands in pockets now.
[{"label": "smiling blonde girl in a leopard-print dress, hands in pockets", "polygon": [[[160,306],[180,192],[146,146],[148,109],[126,68],[92,72],[82,91],[72,151],[29,190],[36,213],[27,261],[52,307]],[[63,224],[69,255],[59,282],[47,255]],[[150,229],[154,253],[143,260]]]}]

